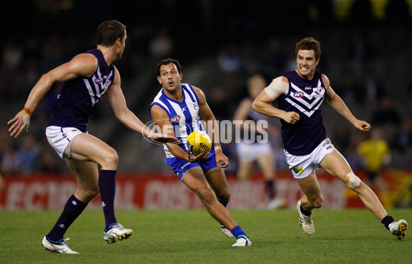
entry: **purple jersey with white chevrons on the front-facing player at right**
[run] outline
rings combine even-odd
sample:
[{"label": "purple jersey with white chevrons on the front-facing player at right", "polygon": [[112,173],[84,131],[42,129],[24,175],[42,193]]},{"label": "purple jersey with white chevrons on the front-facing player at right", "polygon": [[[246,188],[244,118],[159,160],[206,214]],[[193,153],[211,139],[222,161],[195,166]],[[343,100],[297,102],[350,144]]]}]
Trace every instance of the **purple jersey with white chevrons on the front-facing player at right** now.
[{"label": "purple jersey with white chevrons on the front-facing player at right", "polygon": [[280,119],[284,149],[295,156],[308,155],[326,139],[320,109],[325,85],[317,71],[312,80],[303,79],[296,71],[288,71],[284,77],[288,78],[289,89],[286,95],[278,98],[279,109],[300,115],[299,121],[293,125]]}]

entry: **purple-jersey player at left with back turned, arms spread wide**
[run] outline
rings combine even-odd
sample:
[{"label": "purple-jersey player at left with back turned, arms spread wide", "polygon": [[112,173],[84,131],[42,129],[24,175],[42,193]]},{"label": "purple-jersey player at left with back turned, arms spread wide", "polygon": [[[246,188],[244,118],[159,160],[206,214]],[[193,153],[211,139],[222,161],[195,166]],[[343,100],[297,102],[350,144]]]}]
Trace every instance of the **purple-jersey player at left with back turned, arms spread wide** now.
[{"label": "purple-jersey player at left with back turned, arms spread wide", "polygon": [[[27,132],[30,115],[39,101],[56,82],[62,82],[46,128],[47,139],[67,165],[78,183],[78,190],[69,197],[56,224],[43,238],[46,250],[62,254],[78,254],[69,248],[63,236],[99,193],[106,221],[104,241],[115,243],[127,239],[133,230],[117,222],[114,212],[115,175],[119,158],[115,149],[87,133],[87,121],[93,107],[106,95],[117,119],[131,130],[159,143],[174,143],[174,136],[153,133],[126,106],[120,86],[120,74],[112,64],[122,58],[126,45],[126,26],[115,20],[98,27],[97,47],[75,56],[41,76],[32,88],[23,110],[8,121],[10,136]],[[100,165],[100,170],[98,168]]]}]

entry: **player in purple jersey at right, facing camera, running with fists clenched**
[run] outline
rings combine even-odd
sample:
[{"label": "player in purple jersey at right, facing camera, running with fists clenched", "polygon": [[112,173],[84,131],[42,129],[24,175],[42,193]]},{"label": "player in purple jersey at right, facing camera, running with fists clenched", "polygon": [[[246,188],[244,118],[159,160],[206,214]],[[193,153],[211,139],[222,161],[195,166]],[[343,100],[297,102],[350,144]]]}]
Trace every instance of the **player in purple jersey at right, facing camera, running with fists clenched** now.
[{"label": "player in purple jersey at right, facing camera, running with fists clenched", "polygon": [[[397,238],[403,239],[408,224],[395,221],[387,214],[378,197],[354,174],[345,158],[326,136],[320,106],[325,99],[336,112],[358,130],[367,132],[371,125],[356,119],[341,97],[336,95],[326,75],[316,71],[321,56],[321,45],[314,38],[304,38],[295,47],[297,69],[275,78],[253,101],[253,110],[282,123],[282,140],[289,169],[304,192],[297,202],[299,222],[306,233],[314,233],[312,209],[323,203],[316,169],[322,167],[347,187],[358,193],[363,204]],[[279,108],[271,105],[277,99]]]}]

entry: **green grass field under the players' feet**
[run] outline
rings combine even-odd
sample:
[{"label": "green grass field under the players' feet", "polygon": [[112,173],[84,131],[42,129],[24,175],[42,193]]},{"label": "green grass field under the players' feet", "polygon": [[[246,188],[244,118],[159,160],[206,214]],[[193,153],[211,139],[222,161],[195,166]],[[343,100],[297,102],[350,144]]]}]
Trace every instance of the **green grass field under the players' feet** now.
[{"label": "green grass field under the players' feet", "polygon": [[[230,211],[251,248],[231,248],[206,211],[117,211],[133,229],[106,245],[102,211],[84,211],[66,233],[78,255],[43,251],[41,239],[60,211],[0,211],[1,263],[412,263],[412,232],[397,241],[367,210],[314,211],[306,235],[295,210]],[[412,224],[411,209],[388,212]],[[411,227],[410,227],[411,228]]]}]

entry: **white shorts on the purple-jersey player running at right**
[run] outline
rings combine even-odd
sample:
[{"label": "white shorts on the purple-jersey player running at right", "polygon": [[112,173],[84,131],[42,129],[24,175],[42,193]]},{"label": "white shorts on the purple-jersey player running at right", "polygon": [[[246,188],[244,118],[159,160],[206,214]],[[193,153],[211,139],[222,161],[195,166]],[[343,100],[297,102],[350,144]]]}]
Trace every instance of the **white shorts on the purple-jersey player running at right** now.
[{"label": "white shorts on the purple-jersey player running at right", "polygon": [[322,141],[311,154],[306,156],[294,156],[284,149],[286,162],[296,179],[303,179],[309,176],[314,169],[319,169],[319,163],[327,154],[334,152],[336,148],[330,139]]}]

